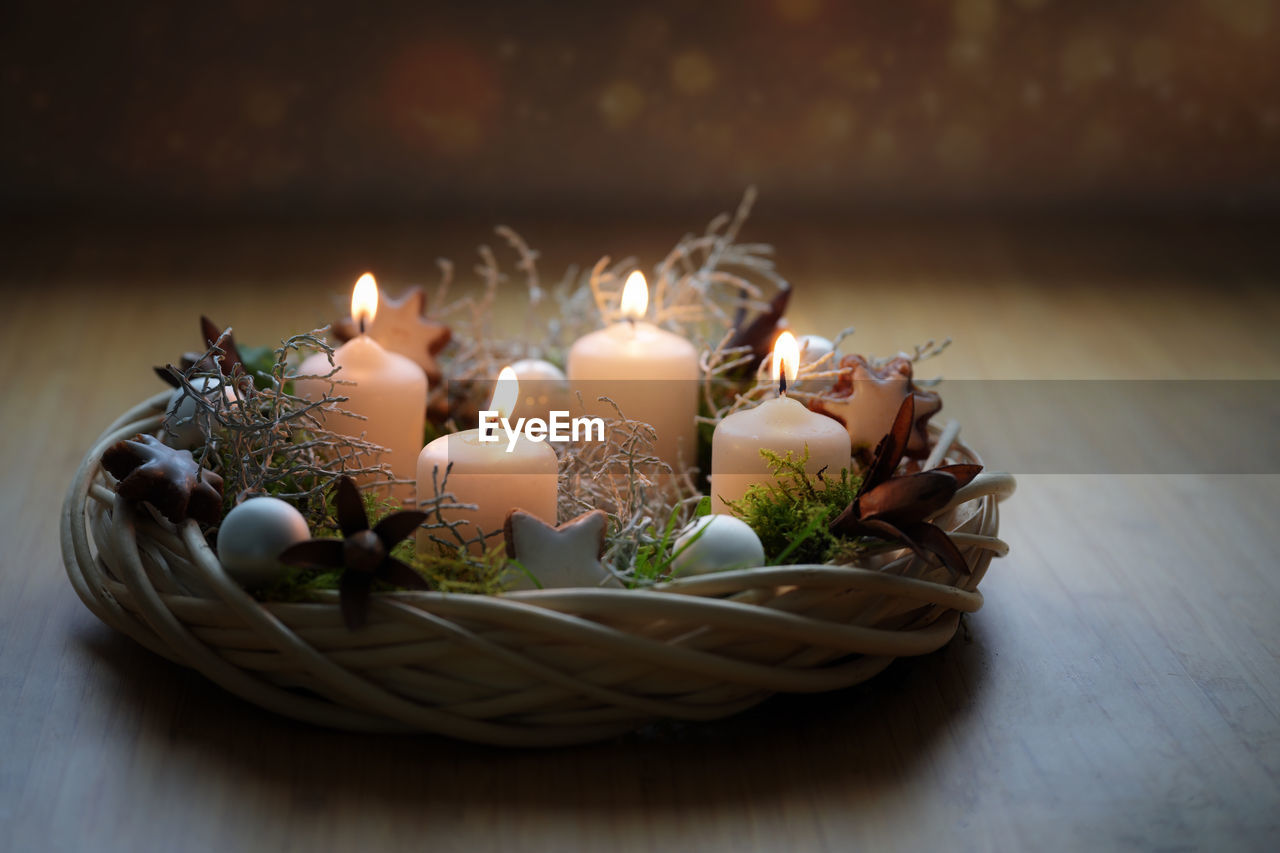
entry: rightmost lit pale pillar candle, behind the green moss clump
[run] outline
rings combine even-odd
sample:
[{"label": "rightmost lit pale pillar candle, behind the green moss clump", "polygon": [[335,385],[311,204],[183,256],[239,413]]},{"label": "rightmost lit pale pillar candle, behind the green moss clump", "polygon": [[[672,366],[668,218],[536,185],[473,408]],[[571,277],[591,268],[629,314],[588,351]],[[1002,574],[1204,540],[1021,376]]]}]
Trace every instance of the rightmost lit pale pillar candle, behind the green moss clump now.
[{"label": "rightmost lit pale pillar candle, behind the green moss clump", "polygon": [[[773,347],[773,380],[795,379],[799,364],[795,337],[783,332]],[[712,511],[730,512],[728,502],[739,501],[746,489],[773,482],[769,464],[760,450],[780,456],[790,451],[795,459],[809,452],[805,473],[840,476],[849,467],[849,434],[833,419],[809,411],[799,400],[785,393],[765,400],[754,409],[733,412],[716,425],[712,435]]]}]

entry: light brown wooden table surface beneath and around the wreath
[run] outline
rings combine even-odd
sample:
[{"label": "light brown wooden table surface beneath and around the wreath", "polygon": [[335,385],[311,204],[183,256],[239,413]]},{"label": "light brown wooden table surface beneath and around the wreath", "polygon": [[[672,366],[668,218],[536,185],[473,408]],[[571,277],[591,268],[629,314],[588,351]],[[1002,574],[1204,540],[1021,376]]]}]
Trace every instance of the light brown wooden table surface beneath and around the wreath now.
[{"label": "light brown wooden table surface beneath and around the wreath", "polygon": [[[657,260],[696,224],[525,231],[558,273],[603,252]],[[0,848],[1275,849],[1275,233],[754,224],[796,282],[792,324],[856,324],[850,348],[952,336],[933,362],[948,377],[1206,382],[1124,386],[1093,411],[973,415],[964,434],[1020,488],[1002,515],[1012,552],[947,648],[721,724],[520,752],[251,707],[99,624],[56,537],[82,452],[157,389],[152,364],[193,347],[200,313],[275,341],[328,320],[364,266],[393,287],[426,280],[434,256],[466,263],[485,231],[10,228]],[[1172,412],[1146,405],[1152,388],[1176,391]]]}]

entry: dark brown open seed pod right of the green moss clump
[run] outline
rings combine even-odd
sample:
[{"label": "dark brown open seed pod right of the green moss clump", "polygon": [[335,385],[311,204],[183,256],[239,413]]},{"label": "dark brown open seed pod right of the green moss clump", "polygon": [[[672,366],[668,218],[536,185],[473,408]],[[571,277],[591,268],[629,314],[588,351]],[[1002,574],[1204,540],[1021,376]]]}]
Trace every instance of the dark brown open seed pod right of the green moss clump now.
[{"label": "dark brown open seed pod right of the green moss clump", "polygon": [[874,537],[901,542],[923,560],[937,555],[957,574],[969,574],[969,564],[951,537],[927,519],[940,511],[956,489],[982,471],[980,465],[943,465],[928,471],[892,476],[915,423],[910,394],[899,406],[893,426],[876,446],[876,456],[863,476],[852,502],[831,523],[831,532],[845,537]]}]

